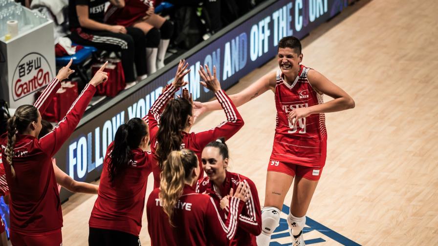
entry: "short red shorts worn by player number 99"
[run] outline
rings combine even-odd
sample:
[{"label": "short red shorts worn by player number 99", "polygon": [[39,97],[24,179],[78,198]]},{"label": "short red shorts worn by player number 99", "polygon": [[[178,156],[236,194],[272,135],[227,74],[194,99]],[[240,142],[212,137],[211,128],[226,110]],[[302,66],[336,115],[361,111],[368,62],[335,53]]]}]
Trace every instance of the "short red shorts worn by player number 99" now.
[{"label": "short red shorts worn by player number 99", "polygon": [[307,180],[317,181],[321,177],[323,167],[304,166],[292,163],[284,163],[275,160],[270,160],[268,164],[268,171],[282,172],[292,177],[302,177]]}]

